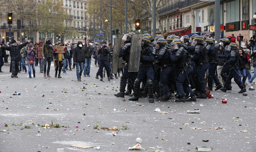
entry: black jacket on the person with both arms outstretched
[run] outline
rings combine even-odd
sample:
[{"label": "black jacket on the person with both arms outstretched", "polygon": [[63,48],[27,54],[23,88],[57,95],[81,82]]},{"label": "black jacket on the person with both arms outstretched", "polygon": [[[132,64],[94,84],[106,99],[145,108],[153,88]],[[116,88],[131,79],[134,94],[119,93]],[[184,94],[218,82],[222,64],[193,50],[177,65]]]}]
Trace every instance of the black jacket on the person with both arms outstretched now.
[{"label": "black jacket on the person with both arms outstretched", "polygon": [[28,44],[28,41],[25,43],[22,43],[20,45],[17,46],[9,46],[9,47],[5,47],[2,46],[3,49],[10,51],[10,56],[11,56],[11,60],[12,61],[20,61],[20,49],[22,49],[23,47],[25,47]]}]

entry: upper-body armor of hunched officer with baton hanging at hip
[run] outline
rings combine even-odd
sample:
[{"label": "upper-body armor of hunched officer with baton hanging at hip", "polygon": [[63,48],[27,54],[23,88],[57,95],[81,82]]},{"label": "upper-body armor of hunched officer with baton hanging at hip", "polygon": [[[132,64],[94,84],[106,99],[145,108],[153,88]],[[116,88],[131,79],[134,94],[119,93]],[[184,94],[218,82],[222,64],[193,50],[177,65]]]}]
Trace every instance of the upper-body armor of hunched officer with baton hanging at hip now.
[{"label": "upper-body armor of hunched officer with baton hanging at hip", "polygon": [[[186,52],[186,57],[183,57],[183,53]],[[183,65],[186,67],[189,67],[191,66],[191,56],[190,54],[188,53],[187,50],[185,50],[184,48],[179,48],[178,51],[175,53],[175,55],[177,57],[180,57],[180,59],[177,61],[177,64],[176,64],[176,67],[178,69],[183,69]]]}]

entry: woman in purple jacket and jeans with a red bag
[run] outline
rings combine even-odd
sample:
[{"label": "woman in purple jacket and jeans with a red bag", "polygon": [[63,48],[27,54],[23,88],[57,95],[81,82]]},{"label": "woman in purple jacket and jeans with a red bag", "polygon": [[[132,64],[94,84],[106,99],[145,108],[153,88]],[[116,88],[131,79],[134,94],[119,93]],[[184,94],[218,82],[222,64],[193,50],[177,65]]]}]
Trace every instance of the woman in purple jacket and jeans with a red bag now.
[{"label": "woman in purple jacket and jeans with a red bag", "polygon": [[28,52],[28,76],[29,76],[29,78],[32,78],[32,76],[31,76],[31,67],[33,69],[33,77],[36,77],[36,69],[35,69],[36,50],[35,50],[35,48],[33,47],[32,44],[30,44],[28,48],[29,48],[27,50],[27,52]]}]

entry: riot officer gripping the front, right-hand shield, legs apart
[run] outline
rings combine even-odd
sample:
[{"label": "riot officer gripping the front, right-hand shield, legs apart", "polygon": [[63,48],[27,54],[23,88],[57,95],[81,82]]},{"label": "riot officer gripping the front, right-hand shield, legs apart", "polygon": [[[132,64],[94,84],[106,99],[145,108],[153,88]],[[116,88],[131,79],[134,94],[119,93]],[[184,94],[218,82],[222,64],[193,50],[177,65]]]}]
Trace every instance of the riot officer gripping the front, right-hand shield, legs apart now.
[{"label": "riot officer gripping the front, right-hand shield, legs apart", "polygon": [[156,50],[150,45],[151,40],[149,37],[142,37],[141,42],[141,55],[140,55],[140,63],[141,68],[138,72],[138,76],[134,82],[134,95],[129,98],[130,101],[138,101],[139,99],[139,91],[140,91],[140,83],[146,79],[146,85],[148,88],[149,94],[149,102],[154,102],[154,69],[153,62],[155,61]]}]

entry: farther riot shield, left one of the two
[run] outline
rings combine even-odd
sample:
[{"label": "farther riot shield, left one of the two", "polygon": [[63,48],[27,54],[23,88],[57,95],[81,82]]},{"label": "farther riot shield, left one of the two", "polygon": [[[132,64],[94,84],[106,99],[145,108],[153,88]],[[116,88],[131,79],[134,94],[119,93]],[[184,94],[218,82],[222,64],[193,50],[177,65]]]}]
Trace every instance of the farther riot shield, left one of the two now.
[{"label": "farther riot shield, left one of the two", "polygon": [[116,74],[117,73],[117,68],[118,68],[118,65],[119,65],[120,44],[121,44],[121,39],[120,38],[115,38],[114,39],[114,47],[113,47],[113,61],[112,61],[111,74]]}]

